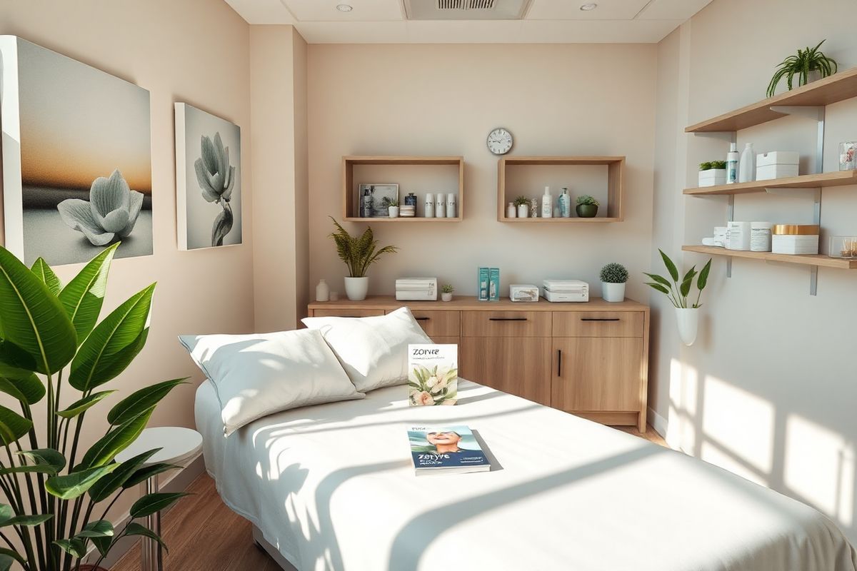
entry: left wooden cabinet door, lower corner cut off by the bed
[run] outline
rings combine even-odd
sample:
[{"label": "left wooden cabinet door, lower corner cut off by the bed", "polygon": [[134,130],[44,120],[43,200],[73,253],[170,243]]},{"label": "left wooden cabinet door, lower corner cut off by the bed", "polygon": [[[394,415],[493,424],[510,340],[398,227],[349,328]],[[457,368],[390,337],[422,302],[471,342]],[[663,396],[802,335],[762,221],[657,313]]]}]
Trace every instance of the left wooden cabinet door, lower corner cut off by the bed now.
[{"label": "left wooden cabinet door, lower corner cut off by the bed", "polygon": [[549,405],[550,341],[549,337],[462,337],[458,375]]}]

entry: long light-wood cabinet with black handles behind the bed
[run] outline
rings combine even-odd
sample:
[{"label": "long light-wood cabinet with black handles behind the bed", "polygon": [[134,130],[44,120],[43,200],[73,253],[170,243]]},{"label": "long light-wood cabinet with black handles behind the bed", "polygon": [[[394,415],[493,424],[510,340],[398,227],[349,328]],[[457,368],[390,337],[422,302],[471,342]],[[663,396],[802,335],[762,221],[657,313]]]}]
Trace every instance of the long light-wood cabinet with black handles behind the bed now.
[{"label": "long light-wood cabinet with black handles behind the bed", "polygon": [[645,430],[649,308],[636,301],[512,303],[370,297],[309,305],[365,317],[406,305],[434,342],[458,344],[458,374],[609,425]]}]

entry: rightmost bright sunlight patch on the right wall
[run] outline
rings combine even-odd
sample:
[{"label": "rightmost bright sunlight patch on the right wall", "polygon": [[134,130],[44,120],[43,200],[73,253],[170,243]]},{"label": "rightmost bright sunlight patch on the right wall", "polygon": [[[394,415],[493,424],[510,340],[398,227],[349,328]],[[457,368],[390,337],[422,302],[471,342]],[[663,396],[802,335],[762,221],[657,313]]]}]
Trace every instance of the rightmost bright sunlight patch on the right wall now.
[{"label": "rightmost bright sunlight patch on the right wall", "polygon": [[841,434],[789,414],[783,480],[843,526],[854,521],[854,445]]}]

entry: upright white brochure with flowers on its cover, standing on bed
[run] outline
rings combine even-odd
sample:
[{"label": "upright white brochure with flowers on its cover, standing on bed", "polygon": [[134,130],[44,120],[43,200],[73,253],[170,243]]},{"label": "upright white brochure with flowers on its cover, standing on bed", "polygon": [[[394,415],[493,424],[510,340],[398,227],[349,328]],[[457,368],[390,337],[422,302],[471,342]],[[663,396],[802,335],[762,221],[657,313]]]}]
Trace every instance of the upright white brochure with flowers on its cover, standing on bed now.
[{"label": "upright white brochure with flowers on its cover, standing on bed", "polygon": [[455,404],[458,400],[458,345],[408,346],[408,402],[411,406]]}]

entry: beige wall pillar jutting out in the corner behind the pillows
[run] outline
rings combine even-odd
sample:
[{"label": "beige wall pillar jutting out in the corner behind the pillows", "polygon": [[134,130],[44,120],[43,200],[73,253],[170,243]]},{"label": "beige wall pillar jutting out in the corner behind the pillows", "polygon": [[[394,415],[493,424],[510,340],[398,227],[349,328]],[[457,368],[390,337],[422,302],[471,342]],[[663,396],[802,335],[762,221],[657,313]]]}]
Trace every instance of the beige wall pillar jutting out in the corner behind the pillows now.
[{"label": "beige wall pillar jutting out in the corner behind the pillows", "polygon": [[291,26],[250,27],[255,329],[297,326],[309,301],[307,44]]}]

